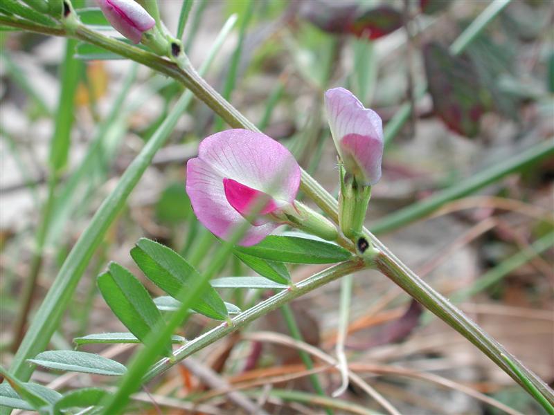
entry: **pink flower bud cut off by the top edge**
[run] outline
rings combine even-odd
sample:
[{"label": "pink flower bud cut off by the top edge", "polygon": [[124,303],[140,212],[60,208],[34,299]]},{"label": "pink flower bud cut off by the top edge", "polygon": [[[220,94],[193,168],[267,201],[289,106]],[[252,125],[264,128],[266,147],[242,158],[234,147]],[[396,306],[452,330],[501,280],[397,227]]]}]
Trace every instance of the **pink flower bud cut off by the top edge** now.
[{"label": "pink flower bud cut off by the top edge", "polygon": [[134,44],[139,44],[143,33],[156,21],[134,0],[96,0],[98,6],[119,33]]}]

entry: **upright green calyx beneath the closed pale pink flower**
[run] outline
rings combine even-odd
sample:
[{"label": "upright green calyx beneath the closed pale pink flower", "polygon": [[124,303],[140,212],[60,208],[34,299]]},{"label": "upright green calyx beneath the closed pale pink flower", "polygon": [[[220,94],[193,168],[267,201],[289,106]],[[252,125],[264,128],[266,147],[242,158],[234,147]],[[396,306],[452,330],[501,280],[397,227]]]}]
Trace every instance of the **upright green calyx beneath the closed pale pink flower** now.
[{"label": "upright green calyx beneath the closed pale pink flower", "polygon": [[371,186],[359,185],[354,176],[346,173],[342,163],[339,163],[339,171],[341,177],[339,225],[344,236],[357,243],[366,219]]}]

